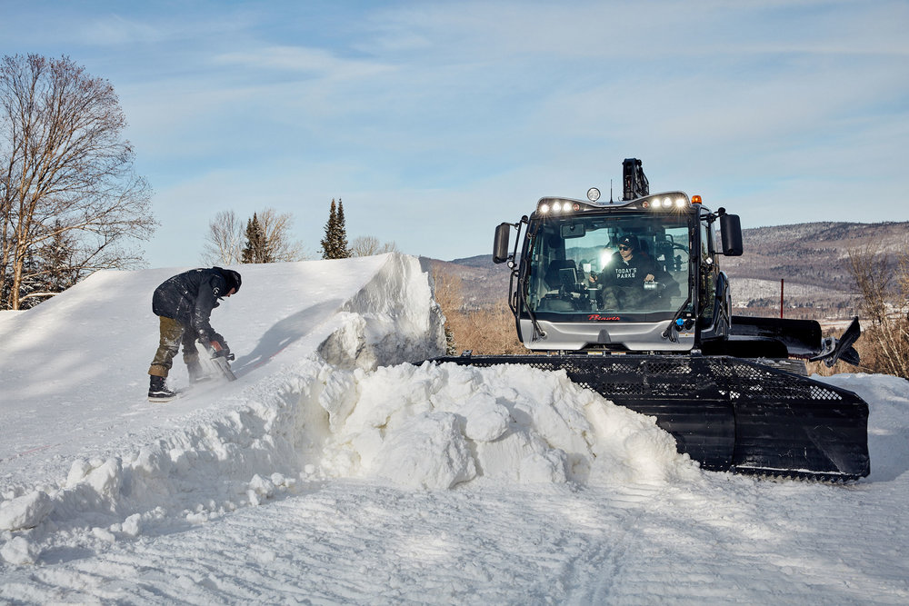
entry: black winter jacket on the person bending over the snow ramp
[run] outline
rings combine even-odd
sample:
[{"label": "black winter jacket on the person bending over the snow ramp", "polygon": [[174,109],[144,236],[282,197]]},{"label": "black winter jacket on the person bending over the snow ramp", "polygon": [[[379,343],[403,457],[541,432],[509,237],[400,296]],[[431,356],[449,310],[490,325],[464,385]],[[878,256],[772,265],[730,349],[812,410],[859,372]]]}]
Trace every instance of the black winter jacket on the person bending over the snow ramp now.
[{"label": "black winter jacket on the person bending over the snow ramp", "polygon": [[209,317],[228,291],[223,272],[220,267],[200,268],[169,278],[155,289],[152,311],[191,327],[207,342],[215,335]]}]

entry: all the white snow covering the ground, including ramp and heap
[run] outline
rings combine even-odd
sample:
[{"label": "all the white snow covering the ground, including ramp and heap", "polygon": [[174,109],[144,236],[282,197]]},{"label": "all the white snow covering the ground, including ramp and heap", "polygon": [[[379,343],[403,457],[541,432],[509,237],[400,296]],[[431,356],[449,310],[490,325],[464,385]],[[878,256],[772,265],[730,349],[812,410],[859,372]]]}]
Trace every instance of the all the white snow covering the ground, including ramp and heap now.
[{"label": "all the white snow covering the ground, including ramp and heap", "polygon": [[[703,472],[564,373],[441,352],[391,253],[236,267],[212,323],[238,380],[147,402],[151,293],[101,272],[0,314],[0,601],[909,601],[909,383],[847,485]],[[815,377],[820,379],[819,377]]]}]

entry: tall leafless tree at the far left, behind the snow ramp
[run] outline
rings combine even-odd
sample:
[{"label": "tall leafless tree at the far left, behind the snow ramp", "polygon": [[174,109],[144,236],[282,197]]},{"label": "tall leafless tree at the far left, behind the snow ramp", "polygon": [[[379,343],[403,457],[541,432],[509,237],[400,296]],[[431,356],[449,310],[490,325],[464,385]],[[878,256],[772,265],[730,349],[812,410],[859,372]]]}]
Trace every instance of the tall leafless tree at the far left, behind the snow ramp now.
[{"label": "tall leafless tree at the far left, behind the snow ramp", "polygon": [[63,233],[79,276],[142,262],[131,244],[156,223],[151,188],[121,138],[125,125],[114,87],[68,58],[0,60],[0,307],[48,294],[21,288],[47,271],[29,260]]}]

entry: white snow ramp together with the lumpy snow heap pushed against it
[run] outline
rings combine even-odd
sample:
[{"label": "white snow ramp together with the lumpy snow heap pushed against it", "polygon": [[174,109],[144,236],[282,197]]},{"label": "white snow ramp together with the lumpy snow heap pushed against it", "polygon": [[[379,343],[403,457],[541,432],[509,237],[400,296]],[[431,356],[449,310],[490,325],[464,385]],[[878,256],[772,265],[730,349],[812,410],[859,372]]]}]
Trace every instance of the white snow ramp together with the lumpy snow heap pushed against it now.
[{"label": "white snow ramp together with the lumpy snow heap pushed against it", "polygon": [[213,315],[231,327],[239,380],[165,407],[135,375],[156,342],[147,298],[173,270],[99,273],[0,325],[5,561],[207,522],[330,478],[451,489],[697,473],[653,419],[564,373],[406,363],[444,343],[412,257],[241,269],[244,291]]}]

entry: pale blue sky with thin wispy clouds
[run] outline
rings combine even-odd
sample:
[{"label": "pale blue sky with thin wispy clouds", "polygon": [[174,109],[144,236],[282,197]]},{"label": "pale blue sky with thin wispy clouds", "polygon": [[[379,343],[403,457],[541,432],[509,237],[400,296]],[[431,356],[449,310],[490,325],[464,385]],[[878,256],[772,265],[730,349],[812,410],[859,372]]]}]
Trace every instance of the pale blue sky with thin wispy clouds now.
[{"label": "pale blue sky with thin wispy clouds", "polygon": [[153,267],[200,263],[227,209],[294,214],[315,257],[338,197],[350,239],[489,253],[626,157],[746,228],[906,221],[906,31],[906,1],[0,0],[0,55],[114,84]]}]

